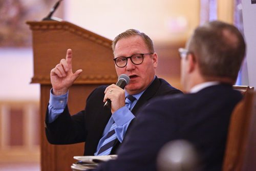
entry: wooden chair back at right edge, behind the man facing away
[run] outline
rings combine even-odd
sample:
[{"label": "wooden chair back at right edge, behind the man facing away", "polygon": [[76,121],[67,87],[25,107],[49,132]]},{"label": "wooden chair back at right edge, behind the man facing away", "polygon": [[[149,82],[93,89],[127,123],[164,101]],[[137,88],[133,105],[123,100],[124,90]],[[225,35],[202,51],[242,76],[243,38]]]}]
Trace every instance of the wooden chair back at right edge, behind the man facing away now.
[{"label": "wooden chair back at right edge, behind the man facing away", "polygon": [[256,169],[253,162],[256,159],[256,95],[253,88],[240,87],[240,90],[244,98],[230,118],[223,171]]}]

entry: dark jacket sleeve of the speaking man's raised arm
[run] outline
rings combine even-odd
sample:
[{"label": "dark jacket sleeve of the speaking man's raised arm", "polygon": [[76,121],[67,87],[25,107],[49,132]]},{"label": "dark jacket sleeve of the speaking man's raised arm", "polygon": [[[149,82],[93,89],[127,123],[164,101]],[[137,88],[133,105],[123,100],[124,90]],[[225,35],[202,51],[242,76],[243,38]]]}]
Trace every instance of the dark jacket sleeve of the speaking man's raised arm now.
[{"label": "dark jacket sleeve of the speaking man's raised arm", "polygon": [[[88,118],[92,118],[103,105],[105,87],[95,89],[88,97],[86,109],[75,115],[70,115],[68,105],[62,114],[52,123],[48,123],[48,110],[46,113],[46,136],[52,144],[73,144],[84,142],[88,135]],[[88,114],[86,114],[88,113]],[[88,125],[89,124],[89,125]]]}]

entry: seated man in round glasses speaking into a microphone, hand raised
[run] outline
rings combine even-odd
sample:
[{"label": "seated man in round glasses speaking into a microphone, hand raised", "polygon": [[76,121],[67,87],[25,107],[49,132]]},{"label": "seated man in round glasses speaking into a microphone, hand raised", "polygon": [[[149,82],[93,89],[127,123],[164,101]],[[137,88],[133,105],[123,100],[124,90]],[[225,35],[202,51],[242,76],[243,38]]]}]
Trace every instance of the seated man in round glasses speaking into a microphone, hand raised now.
[{"label": "seated man in round glasses speaking into a microphone, hand raised", "polygon": [[[46,114],[46,136],[52,144],[86,142],[84,155],[116,154],[131,121],[148,100],[181,91],[155,76],[158,56],[146,34],[130,29],[113,41],[117,75],[126,74],[125,89],[112,84],[96,88],[88,97],[86,108],[70,115],[68,90],[82,70],[72,72],[72,50],[51,70],[52,90]],[[132,95],[129,96],[129,95]],[[130,98],[126,98],[126,97]],[[111,109],[103,107],[111,100]]]}]

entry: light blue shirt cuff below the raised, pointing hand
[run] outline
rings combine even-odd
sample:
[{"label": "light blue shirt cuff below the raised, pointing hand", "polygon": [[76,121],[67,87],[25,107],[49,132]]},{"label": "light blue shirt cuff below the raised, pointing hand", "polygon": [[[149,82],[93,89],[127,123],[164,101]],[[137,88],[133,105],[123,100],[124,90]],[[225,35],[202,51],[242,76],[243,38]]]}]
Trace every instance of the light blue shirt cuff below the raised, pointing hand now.
[{"label": "light blue shirt cuff below the raised, pointing hand", "polygon": [[69,96],[69,91],[66,94],[56,96],[52,93],[52,89],[51,89],[49,104],[54,109],[64,109],[68,102],[68,96]]}]

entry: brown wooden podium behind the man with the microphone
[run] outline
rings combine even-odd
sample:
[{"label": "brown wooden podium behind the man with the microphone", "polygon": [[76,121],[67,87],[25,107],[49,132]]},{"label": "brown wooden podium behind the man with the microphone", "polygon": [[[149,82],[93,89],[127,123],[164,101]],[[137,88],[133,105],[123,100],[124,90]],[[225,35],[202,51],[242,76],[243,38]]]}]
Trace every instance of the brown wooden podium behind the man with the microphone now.
[{"label": "brown wooden podium behind the man with the microphone", "polygon": [[112,40],[82,29],[69,22],[27,22],[32,30],[34,75],[32,83],[40,83],[41,170],[71,170],[73,156],[83,155],[83,143],[51,145],[45,136],[44,120],[51,89],[50,71],[73,50],[73,72],[82,74],[69,90],[71,114],[83,110],[93,89],[117,81]]}]

